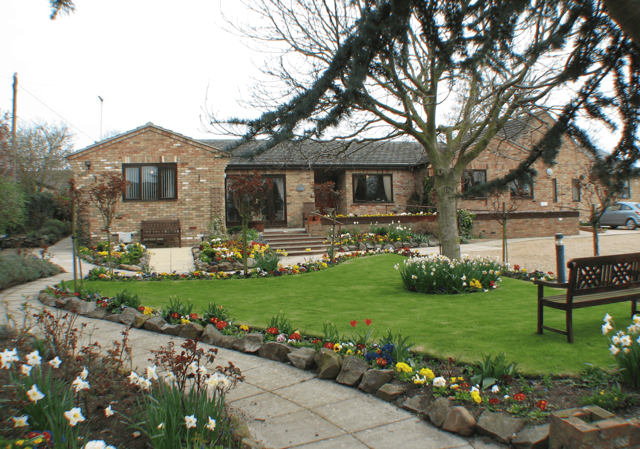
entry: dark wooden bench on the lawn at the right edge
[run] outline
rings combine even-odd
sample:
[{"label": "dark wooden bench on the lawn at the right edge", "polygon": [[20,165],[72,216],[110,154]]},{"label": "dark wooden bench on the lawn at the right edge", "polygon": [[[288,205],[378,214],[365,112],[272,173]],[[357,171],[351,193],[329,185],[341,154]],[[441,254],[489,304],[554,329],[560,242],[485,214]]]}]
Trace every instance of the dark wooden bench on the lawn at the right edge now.
[{"label": "dark wooden bench on the lawn at the right edge", "polygon": [[[535,280],[538,285],[538,335],[543,329],[566,335],[573,343],[573,309],[631,301],[631,315],[638,313],[640,253],[572,259],[566,264],[568,282]],[[544,287],[566,288],[566,294],[544,295]],[[564,310],[566,331],[543,325],[543,308]]]}]

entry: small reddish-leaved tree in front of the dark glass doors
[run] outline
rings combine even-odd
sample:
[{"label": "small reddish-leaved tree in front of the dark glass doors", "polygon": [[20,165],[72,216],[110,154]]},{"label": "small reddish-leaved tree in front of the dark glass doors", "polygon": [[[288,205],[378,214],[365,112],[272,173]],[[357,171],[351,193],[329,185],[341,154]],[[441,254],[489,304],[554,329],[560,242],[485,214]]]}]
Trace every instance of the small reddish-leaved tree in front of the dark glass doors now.
[{"label": "small reddish-leaved tree in front of the dark glass doors", "polygon": [[262,200],[266,198],[273,187],[273,180],[262,178],[257,170],[253,175],[229,175],[227,178],[227,191],[236,206],[238,215],[242,219],[242,259],[244,274],[246,276],[246,229],[253,214],[259,214],[262,209]]}]

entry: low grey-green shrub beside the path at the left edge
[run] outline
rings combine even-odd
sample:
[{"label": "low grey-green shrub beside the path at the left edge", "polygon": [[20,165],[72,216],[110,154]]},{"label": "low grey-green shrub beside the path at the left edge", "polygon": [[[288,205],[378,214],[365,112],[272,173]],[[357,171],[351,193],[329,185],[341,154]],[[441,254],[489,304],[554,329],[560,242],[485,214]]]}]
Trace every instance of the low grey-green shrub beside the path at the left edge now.
[{"label": "low grey-green shrub beside the path at the left edge", "polygon": [[58,265],[32,255],[0,253],[0,290],[11,285],[48,278],[61,271]]}]

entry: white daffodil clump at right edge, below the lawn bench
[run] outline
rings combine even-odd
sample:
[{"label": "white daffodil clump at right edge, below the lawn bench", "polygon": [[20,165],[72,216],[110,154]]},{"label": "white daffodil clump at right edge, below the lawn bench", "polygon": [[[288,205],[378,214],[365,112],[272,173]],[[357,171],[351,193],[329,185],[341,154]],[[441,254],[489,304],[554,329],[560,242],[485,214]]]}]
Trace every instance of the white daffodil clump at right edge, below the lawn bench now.
[{"label": "white daffodil clump at right edge, below the lawn bench", "polygon": [[[614,330],[614,322],[611,315],[607,313],[604,317],[602,333],[607,335]],[[640,386],[640,316],[634,315],[631,326],[627,327],[627,332],[618,331],[616,335],[609,337],[611,346],[609,351],[616,358],[616,364],[622,379],[628,384]]]}]

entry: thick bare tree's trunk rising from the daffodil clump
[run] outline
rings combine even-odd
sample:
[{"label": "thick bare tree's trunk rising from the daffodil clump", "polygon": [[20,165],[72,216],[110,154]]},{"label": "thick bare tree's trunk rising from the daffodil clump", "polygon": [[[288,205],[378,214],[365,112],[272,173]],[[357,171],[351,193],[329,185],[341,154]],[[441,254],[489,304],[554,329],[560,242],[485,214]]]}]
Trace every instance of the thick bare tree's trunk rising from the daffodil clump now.
[{"label": "thick bare tree's trunk rising from the daffodil clump", "polygon": [[435,169],[436,191],[438,192],[438,233],[442,253],[450,259],[460,258],[460,236],[458,235],[458,215],[456,214],[456,187],[460,177],[452,168]]}]

